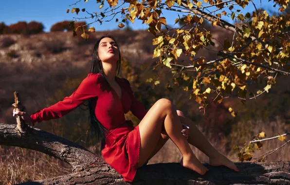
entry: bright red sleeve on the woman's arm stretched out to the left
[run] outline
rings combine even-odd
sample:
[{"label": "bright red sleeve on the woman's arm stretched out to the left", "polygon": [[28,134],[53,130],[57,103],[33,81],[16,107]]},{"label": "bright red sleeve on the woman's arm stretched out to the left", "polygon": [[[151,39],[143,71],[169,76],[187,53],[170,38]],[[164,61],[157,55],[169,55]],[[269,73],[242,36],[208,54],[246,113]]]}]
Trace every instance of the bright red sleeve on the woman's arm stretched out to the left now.
[{"label": "bright red sleeve on the woman's arm stretched out to the left", "polygon": [[48,108],[44,108],[31,114],[30,118],[32,122],[35,123],[43,120],[47,121],[60,118],[77,108],[86,100],[92,97],[97,97],[101,91],[98,80],[99,75],[100,74],[89,74],[72,95],[65,97],[62,101],[59,101]]}]

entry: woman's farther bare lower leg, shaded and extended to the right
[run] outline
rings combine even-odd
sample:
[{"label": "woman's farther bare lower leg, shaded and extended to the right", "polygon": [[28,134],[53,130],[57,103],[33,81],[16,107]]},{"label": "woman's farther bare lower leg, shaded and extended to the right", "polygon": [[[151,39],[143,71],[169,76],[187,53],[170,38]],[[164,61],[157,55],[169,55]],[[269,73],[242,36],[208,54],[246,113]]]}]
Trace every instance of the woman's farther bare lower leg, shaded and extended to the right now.
[{"label": "woman's farther bare lower leg, shaded and extended to the right", "polygon": [[204,135],[200,132],[197,126],[188,118],[186,118],[182,111],[177,111],[181,123],[189,127],[188,143],[199,148],[205,155],[209,157],[209,163],[212,166],[227,166],[235,171],[238,171],[236,165],[230,161],[227,157],[219,153],[214,148]]}]

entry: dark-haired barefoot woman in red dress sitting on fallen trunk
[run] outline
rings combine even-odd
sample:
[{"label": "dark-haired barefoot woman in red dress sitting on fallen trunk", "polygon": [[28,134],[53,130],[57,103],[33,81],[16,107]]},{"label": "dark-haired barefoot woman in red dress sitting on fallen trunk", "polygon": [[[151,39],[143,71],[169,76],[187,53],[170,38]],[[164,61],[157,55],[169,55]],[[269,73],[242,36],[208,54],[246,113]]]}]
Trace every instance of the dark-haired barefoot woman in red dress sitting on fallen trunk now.
[{"label": "dark-haired barefoot woman in red dress sitting on fallen trunk", "polygon": [[[208,170],[194,155],[189,144],[209,157],[212,166],[235,164],[206,140],[195,124],[177,111],[171,101],[158,100],[149,111],[134,97],[127,79],[116,77],[120,71],[120,50],[113,37],[101,37],[93,50],[91,73],[70,97],[29,115],[15,111],[26,122],[56,119],[89,100],[91,129],[102,139],[102,155],[125,181],[132,182],[137,168],[154,156],[170,138],[182,153],[181,165],[203,175]],[[131,111],[141,122],[133,127],[124,114]],[[190,129],[183,129],[181,123]],[[187,138],[188,136],[188,138]]]}]

